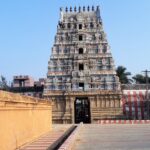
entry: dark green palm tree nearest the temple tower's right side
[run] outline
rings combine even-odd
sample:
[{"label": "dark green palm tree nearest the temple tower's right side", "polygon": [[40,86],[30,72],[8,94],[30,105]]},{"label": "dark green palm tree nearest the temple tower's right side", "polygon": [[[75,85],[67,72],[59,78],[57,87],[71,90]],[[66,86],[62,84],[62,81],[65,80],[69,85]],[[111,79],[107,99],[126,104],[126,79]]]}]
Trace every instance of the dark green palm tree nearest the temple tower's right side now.
[{"label": "dark green palm tree nearest the temple tower's right side", "polygon": [[126,72],[126,68],[123,66],[118,66],[116,69],[117,76],[119,77],[119,80],[122,84],[130,84],[132,82],[132,79],[129,79],[128,76],[131,75],[130,72]]}]

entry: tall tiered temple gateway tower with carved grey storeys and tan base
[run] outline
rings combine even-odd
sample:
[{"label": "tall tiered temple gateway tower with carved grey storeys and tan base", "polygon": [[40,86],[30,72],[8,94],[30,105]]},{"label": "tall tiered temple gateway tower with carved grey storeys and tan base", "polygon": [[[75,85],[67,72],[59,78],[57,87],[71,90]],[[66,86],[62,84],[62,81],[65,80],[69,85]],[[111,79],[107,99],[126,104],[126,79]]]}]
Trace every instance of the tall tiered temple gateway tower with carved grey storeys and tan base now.
[{"label": "tall tiered temple gateway tower with carved grey storeys and tan base", "polygon": [[61,8],[44,89],[53,123],[121,118],[121,95],[99,6]]}]

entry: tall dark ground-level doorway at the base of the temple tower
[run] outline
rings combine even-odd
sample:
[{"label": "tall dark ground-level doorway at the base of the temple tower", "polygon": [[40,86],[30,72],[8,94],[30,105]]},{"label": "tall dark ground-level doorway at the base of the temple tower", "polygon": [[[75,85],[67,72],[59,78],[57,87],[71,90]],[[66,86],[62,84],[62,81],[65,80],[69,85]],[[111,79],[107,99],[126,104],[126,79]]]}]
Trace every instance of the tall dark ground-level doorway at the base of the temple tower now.
[{"label": "tall dark ground-level doorway at the base of the temple tower", "polygon": [[75,100],[75,123],[91,123],[90,102],[87,97]]}]

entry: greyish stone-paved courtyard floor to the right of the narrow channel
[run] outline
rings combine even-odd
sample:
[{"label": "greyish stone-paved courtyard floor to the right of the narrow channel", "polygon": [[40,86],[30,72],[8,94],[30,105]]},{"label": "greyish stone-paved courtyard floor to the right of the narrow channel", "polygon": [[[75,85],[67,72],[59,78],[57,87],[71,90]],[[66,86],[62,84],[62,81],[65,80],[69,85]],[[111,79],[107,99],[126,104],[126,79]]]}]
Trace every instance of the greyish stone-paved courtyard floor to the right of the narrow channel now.
[{"label": "greyish stone-paved courtyard floor to the right of the narrow channel", "polygon": [[150,124],[84,124],[73,150],[150,150]]}]

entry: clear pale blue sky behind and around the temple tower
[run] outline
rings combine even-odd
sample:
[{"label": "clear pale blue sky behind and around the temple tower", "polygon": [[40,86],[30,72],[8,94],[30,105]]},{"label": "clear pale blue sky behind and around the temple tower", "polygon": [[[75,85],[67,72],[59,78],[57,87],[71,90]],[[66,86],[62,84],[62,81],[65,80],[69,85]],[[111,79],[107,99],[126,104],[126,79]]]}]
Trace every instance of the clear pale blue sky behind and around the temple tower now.
[{"label": "clear pale blue sky behind and around the temple tower", "polygon": [[0,1],[0,74],[46,77],[61,6],[100,5],[115,65],[150,70],[150,0]]}]

